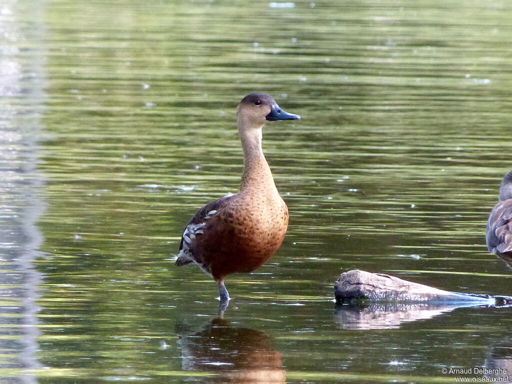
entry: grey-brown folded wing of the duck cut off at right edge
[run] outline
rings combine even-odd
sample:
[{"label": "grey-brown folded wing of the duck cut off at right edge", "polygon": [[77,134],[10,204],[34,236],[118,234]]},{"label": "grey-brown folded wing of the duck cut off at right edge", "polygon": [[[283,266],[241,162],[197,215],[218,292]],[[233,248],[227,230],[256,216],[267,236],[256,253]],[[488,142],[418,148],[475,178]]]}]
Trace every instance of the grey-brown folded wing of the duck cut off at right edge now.
[{"label": "grey-brown folded wing of the duck cut off at right edge", "polygon": [[496,204],[490,212],[485,240],[489,252],[512,254],[512,199]]}]

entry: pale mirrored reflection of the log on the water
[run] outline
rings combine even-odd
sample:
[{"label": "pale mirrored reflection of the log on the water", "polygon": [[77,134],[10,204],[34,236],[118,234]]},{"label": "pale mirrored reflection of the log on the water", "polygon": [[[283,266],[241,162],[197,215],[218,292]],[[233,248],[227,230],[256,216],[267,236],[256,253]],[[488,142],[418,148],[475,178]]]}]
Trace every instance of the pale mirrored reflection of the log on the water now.
[{"label": "pale mirrored reflection of the log on the water", "polygon": [[391,329],[399,328],[401,323],[431,318],[459,307],[460,304],[453,303],[336,305],[335,322],[343,329]]}]

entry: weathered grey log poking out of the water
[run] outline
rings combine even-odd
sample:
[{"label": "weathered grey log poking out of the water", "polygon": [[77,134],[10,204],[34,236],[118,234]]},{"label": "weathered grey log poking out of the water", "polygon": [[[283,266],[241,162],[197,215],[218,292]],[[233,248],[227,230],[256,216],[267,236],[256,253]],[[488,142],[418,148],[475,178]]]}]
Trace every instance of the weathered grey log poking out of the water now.
[{"label": "weathered grey log poking out of the water", "polygon": [[443,291],[381,273],[358,269],[342,273],[334,285],[338,302],[366,298],[371,301],[457,302],[510,305],[512,297]]}]

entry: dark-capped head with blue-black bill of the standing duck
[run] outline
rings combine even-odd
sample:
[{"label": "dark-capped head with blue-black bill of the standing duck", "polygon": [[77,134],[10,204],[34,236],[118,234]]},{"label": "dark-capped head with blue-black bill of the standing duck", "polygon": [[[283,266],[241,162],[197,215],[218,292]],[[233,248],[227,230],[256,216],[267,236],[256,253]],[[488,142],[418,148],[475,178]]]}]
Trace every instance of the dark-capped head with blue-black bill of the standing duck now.
[{"label": "dark-capped head with blue-black bill of the standing duck", "polygon": [[301,116],[283,111],[273,98],[263,93],[251,93],[238,105],[239,128],[261,128],[268,121],[300,120]]}]

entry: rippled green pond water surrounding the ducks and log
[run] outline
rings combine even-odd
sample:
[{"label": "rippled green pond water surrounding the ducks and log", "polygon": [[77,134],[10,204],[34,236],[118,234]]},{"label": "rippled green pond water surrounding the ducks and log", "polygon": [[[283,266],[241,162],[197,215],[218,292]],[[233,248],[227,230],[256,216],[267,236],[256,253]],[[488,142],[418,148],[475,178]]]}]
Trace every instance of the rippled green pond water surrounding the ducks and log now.
[{"label": "rippled green pond water surrounding the ducks and log", "polygon": [[[512,168],[512,6],[293,4],[0,4],[0,381],[512,377],[510,308],[332,302],[356,268],[511,294],[484,232]],[[226,280],[221,320],[215,282],[172,259],[237,191],[251,92],[302,116],[264,130],[290,226]]]}]

